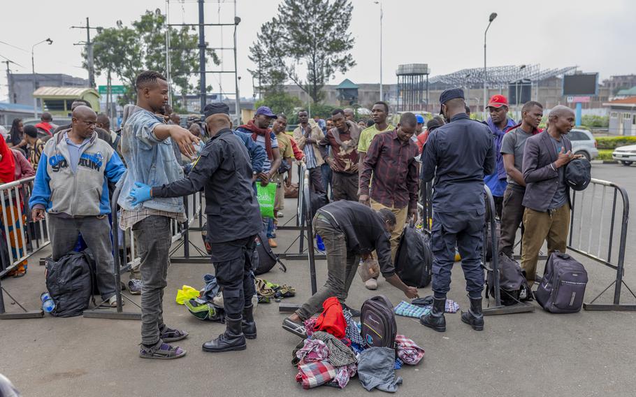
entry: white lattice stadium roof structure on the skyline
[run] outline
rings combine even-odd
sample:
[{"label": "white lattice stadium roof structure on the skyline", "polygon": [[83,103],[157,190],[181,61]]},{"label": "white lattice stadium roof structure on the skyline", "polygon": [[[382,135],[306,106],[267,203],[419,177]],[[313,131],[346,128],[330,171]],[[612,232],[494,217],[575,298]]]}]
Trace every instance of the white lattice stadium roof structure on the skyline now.
[{"label": "white lattice stadium roof structure on the skyline", "polygon": [[[571,73],[576,70],[576,68],[577,66],[542,69],[539,64],[491,66],[486,68],[486,84],[493,87],[508,85],[510,82],[518,80],[541,81]],[[432,77],[429,83],[435,85],[470,85],[471,87],[482,87],[484,84],[484,68],[461,69],[461,71],[447,75],[437,75]]]}]

